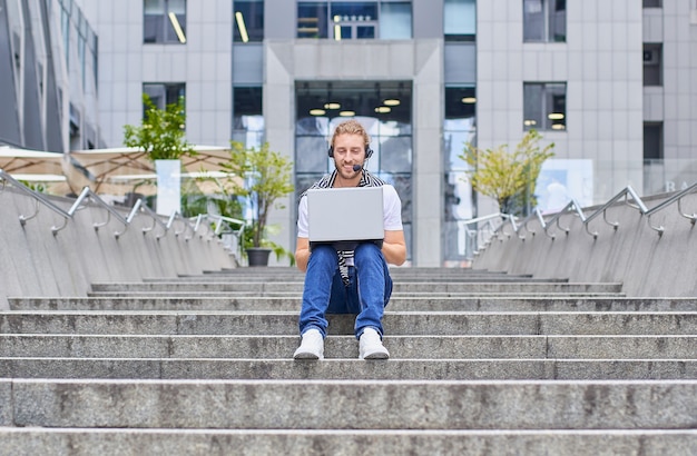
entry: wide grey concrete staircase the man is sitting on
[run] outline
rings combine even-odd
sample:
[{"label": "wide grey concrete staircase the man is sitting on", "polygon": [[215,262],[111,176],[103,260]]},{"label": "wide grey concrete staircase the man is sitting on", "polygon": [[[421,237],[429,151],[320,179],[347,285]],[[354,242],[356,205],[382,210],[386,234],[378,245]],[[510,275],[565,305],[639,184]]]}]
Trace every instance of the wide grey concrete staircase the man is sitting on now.
[{"label": "wide grey concrete staircase the man is sitting on", "polygon": [[0,455],[695,455],[697,300],[399,268],[385,361],[332,316],[294,361],[303,276],[239,268],[10,298]]}]

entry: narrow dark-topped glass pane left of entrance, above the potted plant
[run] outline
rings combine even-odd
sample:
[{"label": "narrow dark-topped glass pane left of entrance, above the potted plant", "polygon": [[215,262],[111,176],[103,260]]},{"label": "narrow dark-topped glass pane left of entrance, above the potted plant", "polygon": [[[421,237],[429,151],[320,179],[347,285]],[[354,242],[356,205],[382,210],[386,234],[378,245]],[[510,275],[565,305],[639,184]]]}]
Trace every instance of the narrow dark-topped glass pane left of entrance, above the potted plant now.
[{"label": "narrow dark-topped glass pane left of entrance, above the potted plant", "polygon": [[261,87],[233,88],[233,140],[247,147],[264,141],[264,115]]}]

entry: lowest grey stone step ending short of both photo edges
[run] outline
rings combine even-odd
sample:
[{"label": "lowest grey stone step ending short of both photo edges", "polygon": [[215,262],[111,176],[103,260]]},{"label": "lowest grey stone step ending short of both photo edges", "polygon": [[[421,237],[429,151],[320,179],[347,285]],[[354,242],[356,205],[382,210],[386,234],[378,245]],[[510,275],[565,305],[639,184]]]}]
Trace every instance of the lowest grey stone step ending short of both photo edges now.
[{"label": "lowest grey stone step ending short of both photo edges", "polygon": [[[91,291],[283,291],[287,295],[303,291],[302,281],[234,281],[234,282],[96,282],[91,285]],[[568,282],[394,282],[393,293],[620,293],[620,284],[568,284]]]}]

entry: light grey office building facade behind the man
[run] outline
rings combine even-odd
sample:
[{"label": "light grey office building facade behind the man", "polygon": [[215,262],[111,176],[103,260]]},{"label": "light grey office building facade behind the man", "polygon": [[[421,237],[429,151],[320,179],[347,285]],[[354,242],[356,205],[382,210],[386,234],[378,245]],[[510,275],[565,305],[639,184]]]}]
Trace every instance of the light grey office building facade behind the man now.
[{"label": "light grey office building facade behind the man", "polygon": [[[461,264],[462,221],[497,210],[463,179],[467,142],[513,148],[530,129],[553,142],[543,210],[697,180],[696,0],[73,1],[99,38],[101,143],[122,143],[143,92],[184,96],[189,141],[268,141],[300,194],[355,117],[415,266]],[[296,198],[272,220],[291,249]]]}]

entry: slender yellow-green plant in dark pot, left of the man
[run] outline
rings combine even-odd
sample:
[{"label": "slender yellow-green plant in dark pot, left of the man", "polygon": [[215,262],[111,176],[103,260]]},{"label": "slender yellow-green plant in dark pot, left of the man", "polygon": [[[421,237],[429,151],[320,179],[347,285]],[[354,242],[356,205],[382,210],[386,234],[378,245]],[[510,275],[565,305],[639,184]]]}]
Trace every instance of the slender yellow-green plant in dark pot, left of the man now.
[{"label": "slender yellow-green plant in dark pot, left of the man", "polygon": [[232,180],[232,189],[235,195],[247,198],[252,208],[252,220],[245,227],[243,241],[249,266],[266,266],[272,250],[277,258],[286,255],[293,262],[293,256],[271,241],[267,232],[269,211],[283,209],[278,199],[293,192],[293,161],[271,150],[268,142],[258,148],[238,141],[230,141],[230,146],[229,161],[220,166],[237,177]]}]

